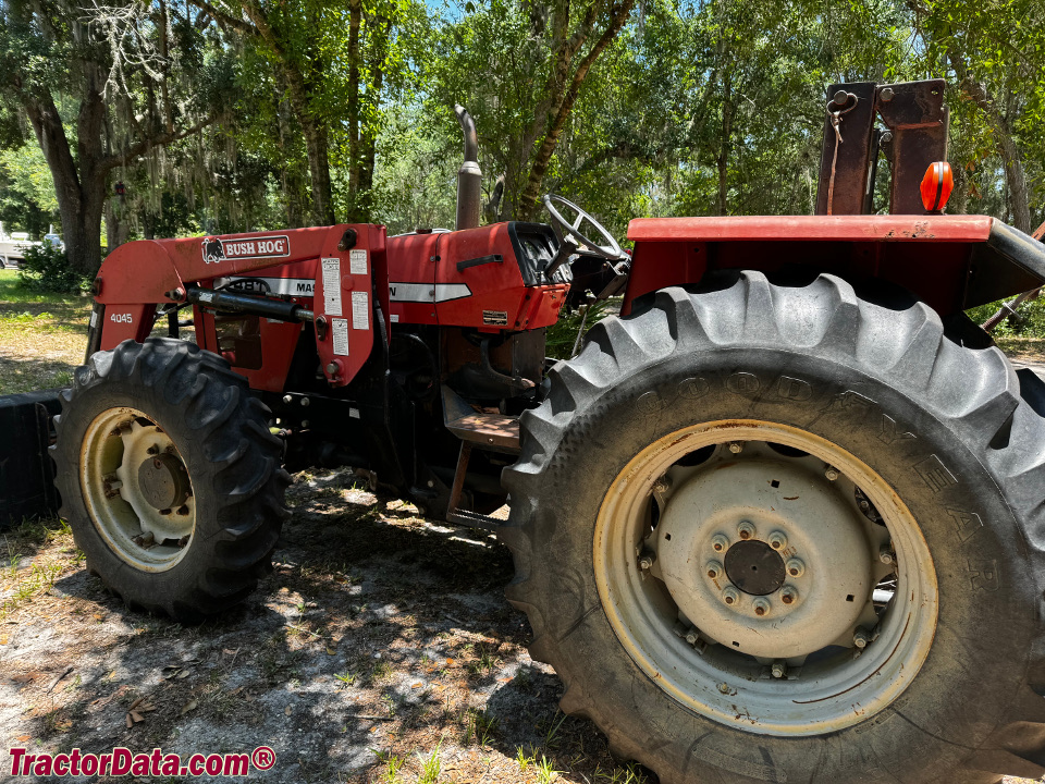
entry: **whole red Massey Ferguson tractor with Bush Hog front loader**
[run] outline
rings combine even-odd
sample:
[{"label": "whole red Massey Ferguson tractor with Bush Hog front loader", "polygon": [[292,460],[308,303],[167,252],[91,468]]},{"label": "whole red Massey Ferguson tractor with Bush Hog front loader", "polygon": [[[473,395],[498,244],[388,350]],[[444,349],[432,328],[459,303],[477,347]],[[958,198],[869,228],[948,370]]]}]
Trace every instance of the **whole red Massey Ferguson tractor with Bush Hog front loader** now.
[{"label": "whole red Massey Ferguson tractor with Bush Hog front loader", "polygon": [[637,219],[630,253],[557,197],[479,225],[458,107],[454,231],[118,248],[50,448],[88,568],[221,611],[286,470],[351,466],[495,528],[563,710],[664,784],[1041,775],[1045,384],[963,311],[1041,286],[1045,246],[943,215],[943,82],[827,97],[815,216]]}]

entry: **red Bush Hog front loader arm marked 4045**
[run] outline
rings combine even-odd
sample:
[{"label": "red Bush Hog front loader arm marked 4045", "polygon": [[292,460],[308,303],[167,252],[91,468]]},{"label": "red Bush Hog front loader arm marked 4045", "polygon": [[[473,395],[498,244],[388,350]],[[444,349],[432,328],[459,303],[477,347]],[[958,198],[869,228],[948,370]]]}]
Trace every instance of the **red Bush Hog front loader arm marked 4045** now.
[{"label": "red Bush Hog front loader arm marked 4045", "polygon": [[[300,291],[273,285],[260,273],[280,268],[278,280],[296,282]],[[250,277],[265,281],[261,296],[226,296],[212,293],[216,283]],[[147,240],[127,243],[110,254],[94,283],[88,356],[108,351],[124,340],[144,341],[152,331],[158,304],[192,304],[197,322],[212,323],[207,310],[225,297],[228,309],[263,317],[262,338],[283,345],[275,366],[237,367],[256,389],[280,391],[303,320],[315,321],[320,364],[332,387],[346,385],[362,367],[373,347],[371,297],[388,313],[389,290],[383,226],[334,225],[255,232],[186,240]],[[299,306],[297,310],[274,306],[269,292]],[[234,297],[238,296],[238,302]],[[253,308],[253,309],[251,309]],[[291,327],[274,322],[290,322]],[[296,329],[294,328],[294,324]],[[202,347],[218,354],[200,333]]]}]

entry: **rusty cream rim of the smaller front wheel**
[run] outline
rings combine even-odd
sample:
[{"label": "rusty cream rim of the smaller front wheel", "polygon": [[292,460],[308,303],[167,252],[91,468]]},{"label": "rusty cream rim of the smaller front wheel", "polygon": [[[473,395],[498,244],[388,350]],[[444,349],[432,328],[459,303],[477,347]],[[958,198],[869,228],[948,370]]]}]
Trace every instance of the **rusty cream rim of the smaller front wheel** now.
[{"label": "rusty cream rim of the smaller front wheel", "polygon": [[196,529],[196,495],[187,471],[180,479],[187,495],[177,493],[170,506],[150,503],[139,470],[146,461],[160,460],[176,471],[185,470],[167,431],[131,407],[110,408],[95,417],[81,446],[87,513],[110,549],[143,572],[172,568],[185,556]]}]

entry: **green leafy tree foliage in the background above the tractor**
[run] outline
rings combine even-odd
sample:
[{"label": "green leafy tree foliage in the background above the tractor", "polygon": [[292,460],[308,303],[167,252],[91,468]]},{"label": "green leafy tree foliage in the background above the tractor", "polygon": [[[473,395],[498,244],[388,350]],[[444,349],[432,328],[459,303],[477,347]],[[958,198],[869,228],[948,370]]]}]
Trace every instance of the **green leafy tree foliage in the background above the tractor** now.
[{"label": "green leafy tree foliage in the background above the tractor", "polygon": [[[77,138],[86,127],[83,63],[110,76],[99,155],[214,120],[111,170],[103,193],[115,240],[118,230],[136,238],[305,225],[315,221],[323,171],[336,220],[384,222],[392,234],[451,226],[456,102],[479,130],[484,219],[519,217],[561,83],[586,61],[614,4],[39,8],[0,4],[0,220],[9,230],[37,236],[59,222],[23,106],[27,87],[54,96],[77,158],[87,149]],[[135,34],[103,19],[114,10],[134,11]],[[86,39],[73,35],[77,14],[91,20]],[[564,41],[578,48],[566,51]],[[1032,223],[1045,220],[1041,0],[643,0],[589,64],[542,189],[577,200],[618,238],[635,217],[808,213],[825,86],[929,76],[951,85],[950,211],[1013,221],[1019,198],[1003,155],[1011,140]],[[970,83],[983,86],[987,103]],[[126,186],[120,199],[116,180]]]}]

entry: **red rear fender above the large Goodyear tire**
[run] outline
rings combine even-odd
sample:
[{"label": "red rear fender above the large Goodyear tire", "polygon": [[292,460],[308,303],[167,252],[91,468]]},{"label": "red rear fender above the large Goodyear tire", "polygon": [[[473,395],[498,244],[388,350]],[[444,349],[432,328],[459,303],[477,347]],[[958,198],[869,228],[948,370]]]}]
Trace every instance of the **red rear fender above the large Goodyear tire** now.
[{"label": "red rear fender above the large Goodyear tire", "polygon": [[803,268],[900,285],[941,316],[1045,283],[1045,245],[984,216],[653,218],[635,242],[623,313],[643,294],[714,270]]}]

